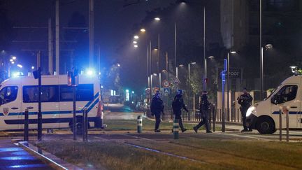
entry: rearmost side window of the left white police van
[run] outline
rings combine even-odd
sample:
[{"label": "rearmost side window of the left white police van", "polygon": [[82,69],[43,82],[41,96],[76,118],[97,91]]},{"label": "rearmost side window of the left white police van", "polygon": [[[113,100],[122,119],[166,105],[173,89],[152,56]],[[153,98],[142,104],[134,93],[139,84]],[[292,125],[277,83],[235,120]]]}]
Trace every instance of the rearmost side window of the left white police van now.
[{"label": "rearmost side window of the left white police van", "polygon": [[[59,86],[59,100],[60,101],[73,101],[73,87],[68,85]],[[82,84],[75,87],[76,101],[93,101],[94,89],[93,84]]]}]

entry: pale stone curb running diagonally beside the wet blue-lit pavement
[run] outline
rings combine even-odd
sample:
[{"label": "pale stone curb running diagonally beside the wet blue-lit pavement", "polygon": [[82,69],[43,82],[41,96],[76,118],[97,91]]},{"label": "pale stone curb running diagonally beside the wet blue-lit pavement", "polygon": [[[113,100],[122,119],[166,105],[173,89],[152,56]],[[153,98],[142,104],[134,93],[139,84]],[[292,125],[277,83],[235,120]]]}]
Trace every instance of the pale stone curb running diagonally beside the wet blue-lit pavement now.
[{"label": "pale stone curb running diagonally beside the wet blue-lit pavement", "polygon": [[[79,167],[74,166],[73,164],[64,162],[63,160],[59,159],[55,155],[52,155],[52,154],[46,152],[45,150],[41,150],[40,148],[37,148],[36,146],[31,145],[31,143],[28,143],[27,141],[18,142],[18,146],[20,146],[22,149],[26,150],[31,155],[34,155],[34,157],[38,158],[38,160],[45,162],[45,164],[48,164],[53,169],[57,169],[57,170],[68,170],[68,169],[79,170],[79,169],[81,169]],[[54,160],[56,160],[56,161],[54,161]],[[64,166],[62,164],[64,164]]]}]

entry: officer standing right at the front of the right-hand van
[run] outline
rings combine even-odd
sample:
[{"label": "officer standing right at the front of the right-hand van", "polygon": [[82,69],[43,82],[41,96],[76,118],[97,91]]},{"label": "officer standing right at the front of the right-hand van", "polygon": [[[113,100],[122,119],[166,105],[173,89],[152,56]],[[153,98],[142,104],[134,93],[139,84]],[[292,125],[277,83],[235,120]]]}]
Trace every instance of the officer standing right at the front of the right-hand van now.
[{"label": "officer standing right at the front of the right-hand van", "polygon": [[252,132],[252,129],[247,129],[246,125],[246,112],[247,109],[252,105],[252,96],[247,93],[247,89],[243,89],[243,94],[237,98],[238,104],[240,104],[240,111],[243,120],[243,130],[241,132]]}]

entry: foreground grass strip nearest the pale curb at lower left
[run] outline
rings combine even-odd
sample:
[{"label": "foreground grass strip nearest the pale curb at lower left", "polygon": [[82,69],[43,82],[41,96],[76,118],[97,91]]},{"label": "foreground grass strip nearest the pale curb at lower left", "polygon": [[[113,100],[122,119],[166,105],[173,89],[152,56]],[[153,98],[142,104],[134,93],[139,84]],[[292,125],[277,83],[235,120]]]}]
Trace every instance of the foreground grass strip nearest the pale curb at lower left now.
[{"label": "foreground grass strip nearest the pale curb at lower left", "polygon": [[37,145],[66,162],[94,169],[222,169],[216,165],[152,153],[113,141],[43,141]]}]

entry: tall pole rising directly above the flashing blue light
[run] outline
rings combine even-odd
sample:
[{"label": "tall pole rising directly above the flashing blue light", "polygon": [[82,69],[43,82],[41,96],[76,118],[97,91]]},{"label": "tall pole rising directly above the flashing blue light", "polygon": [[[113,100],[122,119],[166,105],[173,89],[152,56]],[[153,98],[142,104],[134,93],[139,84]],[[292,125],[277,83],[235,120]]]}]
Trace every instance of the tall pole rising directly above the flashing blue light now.
[{"label": "tall pole rising directly above the flashing blue light", "polygon": [[89,0],[89,67],[94,65],[94,0]]}]

